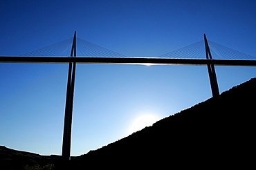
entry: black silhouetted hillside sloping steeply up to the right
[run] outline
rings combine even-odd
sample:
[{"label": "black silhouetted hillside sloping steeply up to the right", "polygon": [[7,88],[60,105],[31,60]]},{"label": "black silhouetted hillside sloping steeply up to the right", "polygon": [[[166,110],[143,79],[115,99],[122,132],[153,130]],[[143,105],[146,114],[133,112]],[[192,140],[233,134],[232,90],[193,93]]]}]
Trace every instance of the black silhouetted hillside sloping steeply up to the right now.
[{"label": "black silhouetted hillside sloping steeply up to the right", "polygon": [[254,78],[81,155],[71,169],[254,166],[255,96]]}]

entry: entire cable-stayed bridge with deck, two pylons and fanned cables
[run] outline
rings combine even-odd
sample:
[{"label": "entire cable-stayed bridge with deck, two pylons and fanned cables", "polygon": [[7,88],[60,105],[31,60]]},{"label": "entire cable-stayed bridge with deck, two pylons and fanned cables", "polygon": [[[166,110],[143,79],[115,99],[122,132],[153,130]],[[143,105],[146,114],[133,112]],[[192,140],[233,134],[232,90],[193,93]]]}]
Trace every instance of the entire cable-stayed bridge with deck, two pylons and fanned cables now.
[{"label": "entire cable-stayed bridge with deck, two pylons and fanned cables", "polygon": [[[70,50],[70,57],[63,55]],[[79,56],[77,52],[80,52]],[[218,58],[213,59],[212,52]],[[62,142],[62,158],[69,160],[76,64],[205,65],[208,67],[212,96],[215,97],[219,95],[219,87],[214,66],[256,66],[256,58],[208,41],[206,35],[203,35],[202,41],[159,57],[127,57],[77,38],[75,32],[71,39],[22,56],[0,56],[0,63],[69,64]]]}]

